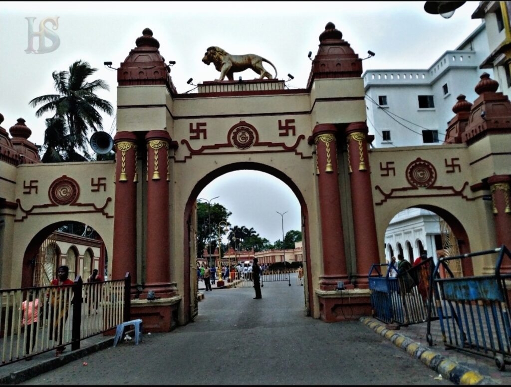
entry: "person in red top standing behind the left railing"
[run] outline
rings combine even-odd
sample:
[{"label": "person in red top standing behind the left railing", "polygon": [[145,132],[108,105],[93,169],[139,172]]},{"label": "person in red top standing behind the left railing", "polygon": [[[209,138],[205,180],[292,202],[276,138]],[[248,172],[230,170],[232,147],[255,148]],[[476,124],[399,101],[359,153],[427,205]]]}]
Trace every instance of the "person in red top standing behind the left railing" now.
[{"label": "person in red top standing behind the left railing", "polygon": [[[62,345],[64,339],[64,325],[69,313],[69,304],[72,297],[71,288],[62,285],[73,285],[68,279],[69,268],[65,265],[57,268],[57,278],[53,279],[50,285],[52,288],[46,297],[51,308],[50,311],[50,337],[53,341],[58,340],[58,347],[55,356],[60,356],[65,347]],[[51,293],[51,294],[50,294]]]}]

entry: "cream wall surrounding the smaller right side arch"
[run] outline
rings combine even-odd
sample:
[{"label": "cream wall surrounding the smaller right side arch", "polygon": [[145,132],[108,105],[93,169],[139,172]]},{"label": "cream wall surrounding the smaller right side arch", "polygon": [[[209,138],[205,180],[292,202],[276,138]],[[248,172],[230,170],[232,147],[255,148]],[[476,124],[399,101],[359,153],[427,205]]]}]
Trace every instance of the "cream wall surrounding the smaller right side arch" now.
[{"label": "cream wall surrounding the smaller right side arch", "polygon": [[[481,171],[474,171],[471,167],[471,152],[464,144],[442,145],[435,147],[403,147],[399,149],[378,149],[369,154],[371,165],[371,182],[374,190],[374,202],[379,203],[383,196],[376,189],[381,189],[388,193],[392,188],[410,187],[406,180],[405,171],[409,163],[417,157],[430,161],[436,170],[437,178],[434,186],[448,187],[453,186],[455,190],[461,191],[462,195],[468,199],[480,197],[483,194],[489,194],[489,191],[472,192],[470,186],[480,183],[482,178],[487,175],[481,175]],[[445,159],[451,163],[451,158],[458,158],[456,162],[461,167],[461,173],[446,173],[448,168],[445,166]],[[396,176],[382,177],[380,172],[380,163],[385,165],[393,161],[396,168]],[[456,168],[457,171],[457,168]],[[466,184],[467,183],[467,184]],[[463,189],[463,186],[466,186]],[[423,196],[423,195],[448,195],[453,190],[418,188],[416,190],[401,191],[395,195],[401,196]],[[383,244],[385,241],[385,230],[394,215],[399,211],[420,205],[430,205],[442,208],[456,217],[466,230],[472,252],[495,248],[495,231],[493,226],[493,214],[491,212],[491,202],[483,201],[481,198],[475,200],[466,200],[461,196],[444,197],[410,197],[402,199],[388,199],[382,205],[375,205],[375,216],[377,225],[378,243],[380,249],[380,261],[385,262],[385,252]],[[474,261],[475,274],[482,274],[487,271],[491,262]]]}]

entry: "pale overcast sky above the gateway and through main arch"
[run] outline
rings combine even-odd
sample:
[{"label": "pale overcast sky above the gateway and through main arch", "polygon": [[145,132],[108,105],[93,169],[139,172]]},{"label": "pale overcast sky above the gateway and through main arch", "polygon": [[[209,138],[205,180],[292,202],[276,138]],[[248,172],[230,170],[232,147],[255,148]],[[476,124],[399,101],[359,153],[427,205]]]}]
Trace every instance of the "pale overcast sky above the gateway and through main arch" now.
[{"label": "pale overcast sky above the gateway and through main arch", "polygon": [[[165,60],[176,61],[171,76],[178,92],[193,88],[187,84],[212,81],[218,77],[213,65],[201,62],[208,46],[222,47],[231,54],[253,53],[270,60],[277,78],[294,79],[290,88],[305,88],[319,34],[332,21],[359,57],[367,51],[376,56],[364,60],[368,69],[424,69],[455,49],[480,24],[472,19],[479,2],[467,2],[450,19],[424,11],[425,2],[3,2],[0,8],[0,113],[5,129],[23,117],[32,129],[29,138],[42,144],[44,118],[36,118],[28,106],[31,99],[54,93],[52,72],[67,70],[82,59],[98,68],[94,79],[103,79],[110,91],[101,98],[117,104],[117,72],[105,61],[119,67],[135,39],[150,28],[159,41]],[[60,44],[55,51],[27,54],[27,17],[33,31],[40,20],[58,16],[54,33]],[[50,23],[47,28],[50,28]],[[38,47],[38,39],[34,40]],[[50,40],[47,46],[52,46]],[[269,66],[271,69],[271,66]],[[273,73],[271,69],[270,72]],[[254,78],[247,70],[243,78]],[[193,91],[192,91],[193,92]],[[104,116],[104,130],[114,135],[113,116]],[[271,242],[282,239],[284,231],[300,230],[300,208],[291,190],[280,180],[256,172],[226,174],[208,185],[199,197],[221,203],[233,212],[233,225],[253,227]]]}]

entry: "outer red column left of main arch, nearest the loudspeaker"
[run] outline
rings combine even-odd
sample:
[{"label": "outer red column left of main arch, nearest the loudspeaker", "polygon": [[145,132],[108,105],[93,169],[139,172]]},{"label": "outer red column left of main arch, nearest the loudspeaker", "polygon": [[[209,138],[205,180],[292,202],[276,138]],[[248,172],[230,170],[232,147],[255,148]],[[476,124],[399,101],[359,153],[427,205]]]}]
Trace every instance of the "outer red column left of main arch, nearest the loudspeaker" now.
[{"label": "outer red column left of main arch, nearest the loudspeaker", "polygon": [[131,274],[136,281],[136,136],[118,132],[115,143],[115,212],[113,217],[112,280]]}]

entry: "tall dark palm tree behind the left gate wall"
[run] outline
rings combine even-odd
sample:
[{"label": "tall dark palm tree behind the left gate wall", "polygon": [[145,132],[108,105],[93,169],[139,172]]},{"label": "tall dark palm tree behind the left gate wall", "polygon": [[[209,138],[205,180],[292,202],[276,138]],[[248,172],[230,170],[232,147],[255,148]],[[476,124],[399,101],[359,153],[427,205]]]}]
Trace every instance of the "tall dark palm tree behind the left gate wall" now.
[{"label": "tall dark palm tree behind the left gate wall", "polygon": [[79,161],[81,155],[76,149],[84,153],[85,159],[90,158],[87,153],[88,131],[103,129],[103,118],[98,109],[109,115],[113,112],[112,105],[96,95],[98,89],[109,90],[106,82],[101,79],[86,82],[86,78],[97,70],[78,60],[69,66],[68,71],[54,71],[54,86],[59,94],[41,95],[29,102],[32,107],[42,105],[35,113],[37,117],[55,112],[46,120],[43,144],[46,161]]}]

